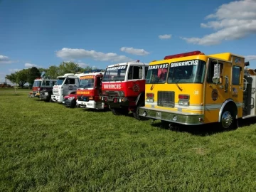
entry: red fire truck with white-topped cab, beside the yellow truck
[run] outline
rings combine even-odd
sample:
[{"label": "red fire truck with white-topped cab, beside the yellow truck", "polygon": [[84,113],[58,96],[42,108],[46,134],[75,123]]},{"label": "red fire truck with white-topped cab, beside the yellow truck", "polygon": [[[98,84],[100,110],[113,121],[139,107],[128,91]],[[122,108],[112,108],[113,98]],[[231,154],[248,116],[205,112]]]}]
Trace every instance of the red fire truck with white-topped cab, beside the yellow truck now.
[{"label": "red fire truck with white-topped cab, beside the yellow truck", "polygon": [[132,111],[139,119],[139,107],[144,106],[146,73],[149,64],[139,60],[109,65],[102,80],[102,102],[113,114]]}]

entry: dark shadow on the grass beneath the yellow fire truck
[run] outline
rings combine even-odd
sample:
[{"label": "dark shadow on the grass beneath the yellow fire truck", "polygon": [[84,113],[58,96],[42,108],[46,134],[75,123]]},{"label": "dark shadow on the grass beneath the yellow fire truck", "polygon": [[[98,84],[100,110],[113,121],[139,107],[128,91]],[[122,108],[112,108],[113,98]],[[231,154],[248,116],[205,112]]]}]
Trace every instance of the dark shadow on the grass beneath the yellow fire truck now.
[{"label": "dark shadow on the grass beneath the yellow fire truck", "polygon": [[[239,119],[238,128],[247,127],[252,124],[256,124],[256,119]],[[187,132],[189,134],[198,135],[201,137],[221,133],[221,132],[232,132],[233,129],[222,129],[218,123],[212,124],[202,124],[202,125],[183,125],[183,124],[174,124],[174,127],[169,127],[168,122],[153,122],[151,124],[153,127],[160,127],[161,129],[169,129],[174,132]]]}]

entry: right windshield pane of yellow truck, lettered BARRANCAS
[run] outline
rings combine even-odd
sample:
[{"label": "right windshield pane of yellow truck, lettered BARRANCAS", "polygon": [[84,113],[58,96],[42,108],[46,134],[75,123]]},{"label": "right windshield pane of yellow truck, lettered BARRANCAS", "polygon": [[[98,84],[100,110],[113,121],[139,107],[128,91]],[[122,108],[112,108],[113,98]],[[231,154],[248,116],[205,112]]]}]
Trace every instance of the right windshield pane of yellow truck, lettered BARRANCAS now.
[{"label": "right windshield pane of yellow truck, lettered BARRANCAS", "polygon": [[[181,61],[181,62],[187,62]],[[192,61],[192,60],[191,60]],[[169,68],[167,83],[203,83],[206,74],[206,61],[197,60],[196,65],[178,65]],[[178,62],[175,62],[178,63]]]}]

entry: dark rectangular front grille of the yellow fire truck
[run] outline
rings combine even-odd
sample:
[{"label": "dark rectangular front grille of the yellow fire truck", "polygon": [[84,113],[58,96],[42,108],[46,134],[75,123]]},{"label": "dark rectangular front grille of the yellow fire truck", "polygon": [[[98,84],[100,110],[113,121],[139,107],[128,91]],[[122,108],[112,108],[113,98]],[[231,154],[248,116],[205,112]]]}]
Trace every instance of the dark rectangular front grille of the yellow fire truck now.
[{"label": "dark rectangular front grille of the yellow fire truck", "polygon": [[174,100],[174,91],[159,91],[157,93],[157,105],[161,107],[174,107],[175,100]]}]

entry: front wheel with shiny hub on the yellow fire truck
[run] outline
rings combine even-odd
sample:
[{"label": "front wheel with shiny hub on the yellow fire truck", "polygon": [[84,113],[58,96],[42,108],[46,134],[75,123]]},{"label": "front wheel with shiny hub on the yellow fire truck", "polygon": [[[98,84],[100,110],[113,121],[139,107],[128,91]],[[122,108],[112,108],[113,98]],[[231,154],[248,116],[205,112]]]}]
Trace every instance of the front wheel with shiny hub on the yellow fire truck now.
[{"label": "front wheel with shiny hub on the yellow fire truck", "polygon": [[223,129],[230,130],[238,128],[238,119],[235,119],[234,111],[230,107],[223,110],[220,118],[220,125]]}]

